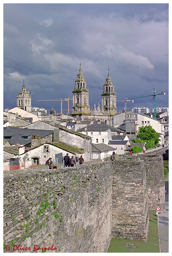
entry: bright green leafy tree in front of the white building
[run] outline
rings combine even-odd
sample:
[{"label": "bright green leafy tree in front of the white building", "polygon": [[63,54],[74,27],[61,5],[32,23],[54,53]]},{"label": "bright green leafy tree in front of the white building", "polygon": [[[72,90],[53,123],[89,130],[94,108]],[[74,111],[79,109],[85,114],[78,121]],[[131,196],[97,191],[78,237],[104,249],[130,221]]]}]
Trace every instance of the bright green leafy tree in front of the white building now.
[{"label": "bright green leafy tree in front of the white building", "polygon": [[155,144],[157,144],[160,140],[158,132],[156,132],[151,125],[139,127],[137,137],[141,140],[154,140]]}]

